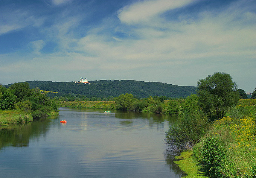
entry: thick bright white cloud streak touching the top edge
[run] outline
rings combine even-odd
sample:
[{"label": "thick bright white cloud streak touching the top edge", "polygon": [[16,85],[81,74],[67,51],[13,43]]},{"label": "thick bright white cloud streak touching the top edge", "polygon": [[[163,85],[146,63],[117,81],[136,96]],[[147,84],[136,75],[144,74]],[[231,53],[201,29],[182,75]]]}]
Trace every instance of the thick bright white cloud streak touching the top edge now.
[{"label": "thick bright white cloud streak touching the top edge", "polygon": [[180,8],[194,0],[144,0],[120,9],[118,17],[127,24],[142,23],[171,9]]}]

